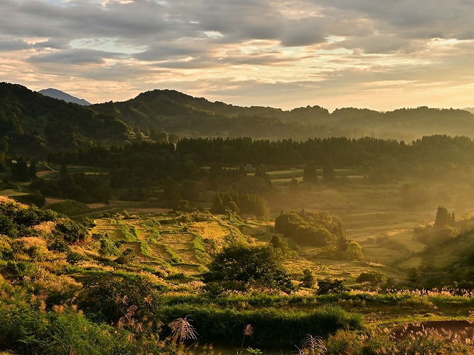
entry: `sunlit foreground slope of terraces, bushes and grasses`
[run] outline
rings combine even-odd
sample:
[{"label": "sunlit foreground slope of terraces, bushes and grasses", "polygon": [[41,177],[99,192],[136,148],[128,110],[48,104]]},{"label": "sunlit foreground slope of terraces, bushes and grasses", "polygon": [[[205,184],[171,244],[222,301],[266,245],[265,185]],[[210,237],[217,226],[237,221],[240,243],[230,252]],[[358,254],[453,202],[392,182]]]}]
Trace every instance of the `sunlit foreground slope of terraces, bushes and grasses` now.
[{"label": "sunlit foreground slope of terraces, bushes and grasses", "polygon": [[[124,211],[78,223],[7,198],[1,206],[0,344],[13,354],[473,351],[469,327],[429,328],[473,320],[470,292],[388,289],[364,260],[352,281],[319,277],[316,264],[301,274],[291,265],[311,258],[270,221]],[[239,284],[231,267],[219,271],[225,262],[256,269]],[[404,330],[417,322],[419,332]]]}]

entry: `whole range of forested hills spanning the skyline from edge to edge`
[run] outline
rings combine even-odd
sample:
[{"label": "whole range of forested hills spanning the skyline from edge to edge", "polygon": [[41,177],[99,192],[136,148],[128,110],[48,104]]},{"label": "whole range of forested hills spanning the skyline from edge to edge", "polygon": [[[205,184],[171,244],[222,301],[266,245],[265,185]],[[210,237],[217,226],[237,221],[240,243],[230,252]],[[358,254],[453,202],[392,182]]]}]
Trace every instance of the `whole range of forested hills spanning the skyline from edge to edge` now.
[{"label": "whole range of forested hills spanning the skyline from edge to edge", "polygon": [[[130,127],[133,127],[133,131]],[[323,107],[283,111],[239,107],[170,90],[141,93],[132,100],[83,107],[0,83],[0,150],[10,156],[45,158],[50,150],[76,150],[93,144],[124,144],[135,138],[160,140],[163,132],[180,137],[238,137],[282,140],[374,136],[412,141],[449,134],[474,137],[474,115],[428,107],[376,112]]]}]

